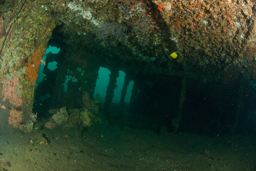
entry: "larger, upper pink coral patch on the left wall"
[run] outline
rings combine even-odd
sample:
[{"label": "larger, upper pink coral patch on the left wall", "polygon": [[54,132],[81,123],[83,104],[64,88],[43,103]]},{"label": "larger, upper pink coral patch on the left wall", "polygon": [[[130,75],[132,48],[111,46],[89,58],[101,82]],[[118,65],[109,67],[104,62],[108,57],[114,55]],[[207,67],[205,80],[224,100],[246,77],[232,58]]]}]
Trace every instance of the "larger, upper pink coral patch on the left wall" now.
[{"label": "larger, upper pink coral patch on the left wall", "polygon": [[15,105],[15,107],[19,107],[22,104],[21,96],[17,95],[16,91],[19,86],[19,78],[15,74],[14,78],[11,80],[7,80],[3,85],[2,91],[2,101],[6,99],[10,101],[11,104]]}]

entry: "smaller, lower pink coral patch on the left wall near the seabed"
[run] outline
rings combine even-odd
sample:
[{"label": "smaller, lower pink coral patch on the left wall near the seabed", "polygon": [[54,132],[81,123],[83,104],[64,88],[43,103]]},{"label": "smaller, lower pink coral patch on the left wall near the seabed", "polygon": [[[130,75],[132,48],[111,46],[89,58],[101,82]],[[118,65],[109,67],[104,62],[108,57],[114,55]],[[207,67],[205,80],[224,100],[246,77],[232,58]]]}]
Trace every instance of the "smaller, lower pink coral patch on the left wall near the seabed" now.
[{"label": "smaller, lower pink coral patch on the left wall near the seabed", "polygon": [[22,111],[16,109],[10,110],[10,117],[8,120],[9,124],[13,125],[14,128],[22,129]]}]

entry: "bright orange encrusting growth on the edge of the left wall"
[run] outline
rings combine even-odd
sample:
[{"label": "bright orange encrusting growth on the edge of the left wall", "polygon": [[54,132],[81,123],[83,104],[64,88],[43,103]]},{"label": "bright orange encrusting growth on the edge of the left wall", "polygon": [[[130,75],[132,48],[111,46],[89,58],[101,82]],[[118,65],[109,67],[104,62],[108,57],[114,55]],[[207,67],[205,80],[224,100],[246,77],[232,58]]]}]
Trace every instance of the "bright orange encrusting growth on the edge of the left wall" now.
[{"label": "bright orange encrusting growth on the edge of the left wall", "polygon": [[38,78],[38,70],[41,64],[42,56],[45,54],[44,48],[35,52],[26,66],[27,81],[33,83]]}]

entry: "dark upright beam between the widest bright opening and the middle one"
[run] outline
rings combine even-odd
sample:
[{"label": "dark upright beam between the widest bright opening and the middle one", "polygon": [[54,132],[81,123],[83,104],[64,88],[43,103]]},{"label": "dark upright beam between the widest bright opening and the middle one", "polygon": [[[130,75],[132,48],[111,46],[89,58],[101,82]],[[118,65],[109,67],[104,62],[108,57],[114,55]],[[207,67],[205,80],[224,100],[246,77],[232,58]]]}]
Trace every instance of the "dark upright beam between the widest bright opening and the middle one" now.
[{"label": "dark upright beam between the widest bright opening and the middle one", "polygon": [[104,115],[110,116],[111,103],[114,96],[114,89],[117,87],[117,77],[119,73],[117,70],[111,70],[109,85],[107,86],[106,98],[104,103]]}]

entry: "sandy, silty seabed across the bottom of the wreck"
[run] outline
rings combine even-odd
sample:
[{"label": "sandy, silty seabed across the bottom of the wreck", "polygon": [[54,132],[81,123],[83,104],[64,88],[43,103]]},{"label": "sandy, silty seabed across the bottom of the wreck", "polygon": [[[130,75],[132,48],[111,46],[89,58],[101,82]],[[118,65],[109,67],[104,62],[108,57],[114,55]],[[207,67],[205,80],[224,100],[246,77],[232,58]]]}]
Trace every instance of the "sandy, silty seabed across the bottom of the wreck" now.
[{"label": "sandy, silty seabed across the bottom of the wreck", "polygon": [[94,124],[0,136],[2,170],[255,170],[255,137]]}]

